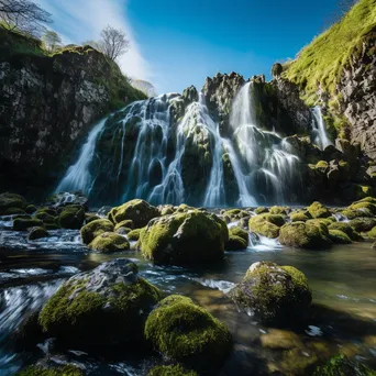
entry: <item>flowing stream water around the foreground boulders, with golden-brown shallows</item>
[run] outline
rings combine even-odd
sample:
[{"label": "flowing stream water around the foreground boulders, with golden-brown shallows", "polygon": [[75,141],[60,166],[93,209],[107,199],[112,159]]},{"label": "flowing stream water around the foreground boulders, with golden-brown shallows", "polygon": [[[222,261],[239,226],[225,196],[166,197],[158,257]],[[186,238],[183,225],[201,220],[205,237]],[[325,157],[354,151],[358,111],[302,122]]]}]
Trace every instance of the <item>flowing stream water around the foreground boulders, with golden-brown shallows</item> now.
[{"label": "flowing stream water around the foreground boulders, with golden-brown shallows", "polygon": [[[25,364],[74,363],[88,375],[146,375],[161,363],[157,354],[95,356],[80,349],[59,352],[51,342],[27,352],[11,346],[23,319],[41,307],[71,275],[115,257],[134,259],[141,275],[167,294],[189,296],[230,329],[234,346],[218,375],[305,375],[330,354],[376,361],[376,258],[372,243],[335,245],[330,251],[297,251],[262,239],[244,252],[226,253],[219,265],[204,269],[161,267],[136,252],[99,254],[80,242],[78,231],[51,231],[52,236],[26,241],[0,221],[0,375]],[[292,265],[303,272],[313,294],[312,318],[306,328],[278,330],[261,325],[237,309],[225,292],[258,261]]]}]

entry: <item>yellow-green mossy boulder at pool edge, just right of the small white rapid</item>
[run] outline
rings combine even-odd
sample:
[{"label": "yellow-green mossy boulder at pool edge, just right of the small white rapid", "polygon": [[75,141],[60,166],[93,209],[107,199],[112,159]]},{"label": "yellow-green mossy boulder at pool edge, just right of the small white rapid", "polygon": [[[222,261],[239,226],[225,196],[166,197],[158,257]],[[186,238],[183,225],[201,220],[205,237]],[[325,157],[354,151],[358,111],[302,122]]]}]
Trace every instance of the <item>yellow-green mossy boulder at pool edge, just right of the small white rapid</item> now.
[{"label": "yellow-green mossy boulder at pool edge, just right of the small white rapid", "polygon": [[280,229],[279,242],[283,245],[307,250],[325,250],[331,246],[328,228],[324,224],[320,226],[307,222],[285,224]]}]

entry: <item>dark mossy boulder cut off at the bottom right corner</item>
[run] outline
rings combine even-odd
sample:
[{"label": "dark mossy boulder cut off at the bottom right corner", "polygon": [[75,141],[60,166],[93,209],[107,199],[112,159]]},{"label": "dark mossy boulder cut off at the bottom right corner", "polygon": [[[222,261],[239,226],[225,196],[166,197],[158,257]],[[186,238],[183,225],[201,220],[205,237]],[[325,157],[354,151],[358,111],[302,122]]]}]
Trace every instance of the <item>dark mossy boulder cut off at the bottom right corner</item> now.
[{"label": "dark mossy boulder cut off at the bottom right corner", "polygon": [[349,360],[346,356],[340,355],[317,367],[313,376],[376,376],[376,371],[356,360]]}]

